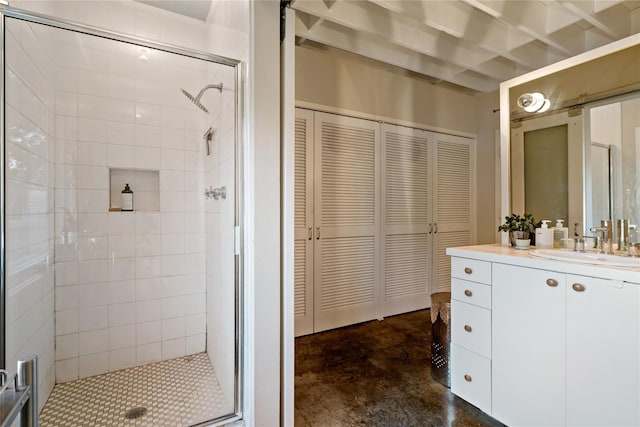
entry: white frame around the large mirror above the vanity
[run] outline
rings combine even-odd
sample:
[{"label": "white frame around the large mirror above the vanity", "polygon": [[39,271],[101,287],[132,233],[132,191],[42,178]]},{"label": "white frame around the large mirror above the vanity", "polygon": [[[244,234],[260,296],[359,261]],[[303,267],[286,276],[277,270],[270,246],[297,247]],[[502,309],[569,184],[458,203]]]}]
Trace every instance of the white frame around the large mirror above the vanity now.
[{"label": "white frame around the large mirror above the vanity", "polygon": [[[599,48],[567,58],[555,64],[515,77],[500,84],[500,220],[511,214],[511,108],[509,90],[512,87],[546,77],[564,69],[584,64],[611,53],[640,45],[640,33]],[[497,225],[496,225],[497,226]],[[500,233],[501,243],[509,246],[507,233]]]}]

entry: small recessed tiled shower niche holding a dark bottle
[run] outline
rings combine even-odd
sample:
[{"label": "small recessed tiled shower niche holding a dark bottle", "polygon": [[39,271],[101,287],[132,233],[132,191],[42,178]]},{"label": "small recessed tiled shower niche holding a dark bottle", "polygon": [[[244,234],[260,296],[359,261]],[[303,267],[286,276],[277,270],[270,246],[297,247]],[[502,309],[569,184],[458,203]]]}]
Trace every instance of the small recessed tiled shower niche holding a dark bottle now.
[{"label": "small recessed tiled shower niche holding a dark bottle", "polygon": [[122,208],[122,190],[125,185],[133,191],[133,210],[160,211],[160,172],[140,169],[109,169],[109,211]]}]

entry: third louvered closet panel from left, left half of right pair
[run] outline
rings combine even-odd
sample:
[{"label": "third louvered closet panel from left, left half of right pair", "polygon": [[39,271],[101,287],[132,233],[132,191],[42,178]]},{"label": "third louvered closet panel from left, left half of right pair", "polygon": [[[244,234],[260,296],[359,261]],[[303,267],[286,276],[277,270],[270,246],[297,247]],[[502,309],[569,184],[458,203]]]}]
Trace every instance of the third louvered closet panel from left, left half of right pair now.
[{"label": "third louvered closet panel from left, left half of right pair", "polygon": [[429,132],[382,125],[382,313],[430,304]]}]

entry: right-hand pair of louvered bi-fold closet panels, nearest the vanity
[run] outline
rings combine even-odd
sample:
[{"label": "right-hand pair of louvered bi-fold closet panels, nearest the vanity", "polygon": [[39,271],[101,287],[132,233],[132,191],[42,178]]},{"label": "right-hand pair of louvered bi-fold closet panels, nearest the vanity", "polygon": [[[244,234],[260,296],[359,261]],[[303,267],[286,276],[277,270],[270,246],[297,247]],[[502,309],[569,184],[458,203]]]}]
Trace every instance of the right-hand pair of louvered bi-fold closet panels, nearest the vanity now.
[{"label": "right-hand pair of louvered bi-fold closet panels, nearest the vanity", "polygon": [[382,316],[451,289],[447,247],[472,243],[472,140],[382,124]]}]

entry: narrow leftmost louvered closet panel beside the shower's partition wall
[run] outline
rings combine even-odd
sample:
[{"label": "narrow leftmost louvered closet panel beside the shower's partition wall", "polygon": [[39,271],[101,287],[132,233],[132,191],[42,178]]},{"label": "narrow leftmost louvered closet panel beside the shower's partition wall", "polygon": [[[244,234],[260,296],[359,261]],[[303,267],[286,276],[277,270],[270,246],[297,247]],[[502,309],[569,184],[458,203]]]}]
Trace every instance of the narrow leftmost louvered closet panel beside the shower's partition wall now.
[{"label": "narrow leftmost louvered closet panel beside the shower's partition wall", "polygon": [[294,194],[295,335],[313,333],[313,111],[296,109]]}]

